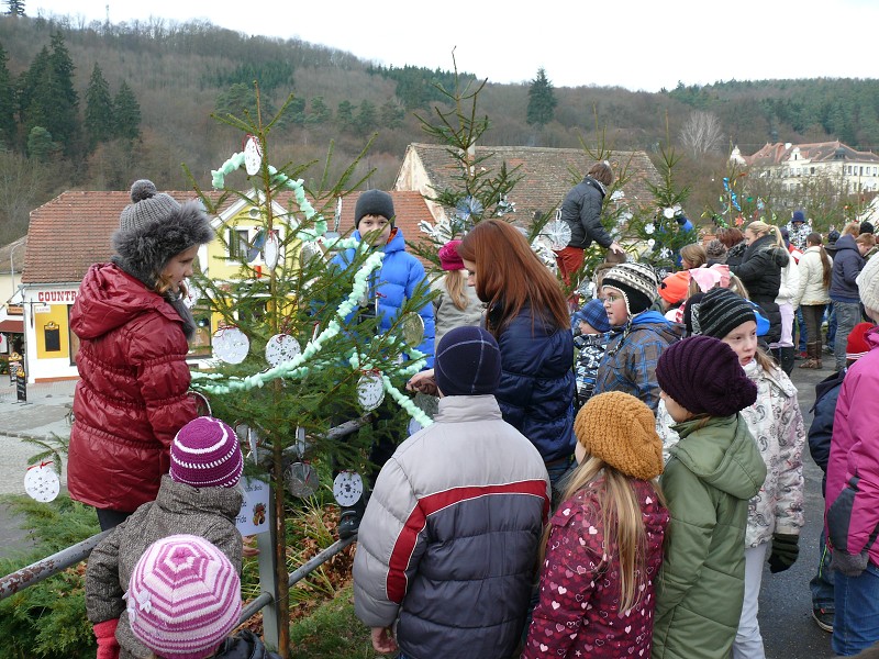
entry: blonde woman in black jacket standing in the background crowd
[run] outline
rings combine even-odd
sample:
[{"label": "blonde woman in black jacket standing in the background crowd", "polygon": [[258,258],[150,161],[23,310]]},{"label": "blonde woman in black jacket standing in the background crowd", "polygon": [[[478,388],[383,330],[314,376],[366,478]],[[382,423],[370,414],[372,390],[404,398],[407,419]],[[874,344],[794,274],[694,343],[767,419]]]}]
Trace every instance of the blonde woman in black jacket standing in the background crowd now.
[{"label": "blonde woman in black jacket standing in the background crowd", "polygon": [[[764,337],[766,343],[779,343],[781,310],[776,298],[781,288],[781,268],[788,265],[790,256],[785,249],[778,227],[759,220],[748,224],[745,241],[748,246],[742,256],[742,263],[732,270],[748,290],[750,299],[760,305],[764,315],[769,319],[769,332]],[[792,321],[791,317],[791,324]]]}]

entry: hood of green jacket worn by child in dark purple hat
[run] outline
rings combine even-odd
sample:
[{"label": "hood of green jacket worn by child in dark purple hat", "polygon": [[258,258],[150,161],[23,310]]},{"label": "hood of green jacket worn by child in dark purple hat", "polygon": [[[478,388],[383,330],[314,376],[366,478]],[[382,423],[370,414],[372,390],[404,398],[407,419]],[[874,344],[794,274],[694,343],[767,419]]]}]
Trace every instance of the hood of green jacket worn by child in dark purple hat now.
[{"label": "hood of green jacket worn by child in dark purple hat", "polygon": [[669,449],[690,471],[731,496],[748,500],[766,480],[766,465],[741,414],[679,423],[680,442]]}]

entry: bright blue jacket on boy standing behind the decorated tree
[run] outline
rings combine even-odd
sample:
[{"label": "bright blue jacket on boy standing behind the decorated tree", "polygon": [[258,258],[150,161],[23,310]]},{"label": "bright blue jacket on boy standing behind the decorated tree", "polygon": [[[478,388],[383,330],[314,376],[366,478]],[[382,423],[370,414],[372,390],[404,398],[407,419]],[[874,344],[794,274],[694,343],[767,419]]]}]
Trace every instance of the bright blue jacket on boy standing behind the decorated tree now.
[{"label": "bright blue jacket on boy standing behind the decorated tree", "polygon": [[[355,231],[353,236],[360,241],[359,231]],[[381,261],[381,268],[374,271],[370,277],[369,297],[372,299],[378,294],[378,313],[381,316],[379,328],[387,333],[390,332],[403,303],[414,295],[415,288],[425,280],[425,273],[421,261],[405,250],[405,238],[399,228],[393,230],[388,242],[379,249],[385,252],[385,259]],[[354,248],[346,249],[336,255],[332,263],[341,268],[347,268],[354,261]],[[429,290],[425,289],[425,294]],[[427,302],[419,310],[419,315],[424,321],[424,338],[419,350],[427,356],[425,368],[433,368],[435,331],[433,304]],[[349,321],[351,317],[346,320]]]}]

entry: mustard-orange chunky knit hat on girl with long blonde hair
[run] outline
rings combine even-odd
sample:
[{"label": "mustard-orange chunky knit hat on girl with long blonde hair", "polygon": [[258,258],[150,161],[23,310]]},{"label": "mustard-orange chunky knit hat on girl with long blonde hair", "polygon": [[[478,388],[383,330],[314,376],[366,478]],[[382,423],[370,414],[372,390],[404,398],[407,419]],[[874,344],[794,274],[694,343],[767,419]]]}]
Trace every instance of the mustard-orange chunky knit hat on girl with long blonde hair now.
[{"label": "mustard-orange chunky knit hat on girl with long blonde hair", "polygon": [[641,400],[622,391],[589,399],[574,422],[574,434],[589,455],[626,476],[650,480],[663,473],[663,440],[656,420]]}]

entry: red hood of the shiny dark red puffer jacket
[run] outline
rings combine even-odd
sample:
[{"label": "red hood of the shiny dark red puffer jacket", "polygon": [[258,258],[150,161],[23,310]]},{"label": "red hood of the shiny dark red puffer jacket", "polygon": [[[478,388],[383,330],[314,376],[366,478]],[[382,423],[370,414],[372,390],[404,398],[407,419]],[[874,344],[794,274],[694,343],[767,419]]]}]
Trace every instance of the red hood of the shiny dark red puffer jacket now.
[{"label": "red hood of the shiny dark red puffer jacket", "polygon": [[115,264],[92,265],[70,312],[70,328],[79,338],[93,339],[124,325],[138,313],[158,311],[183,323],[162,295],[151,291]]}]

